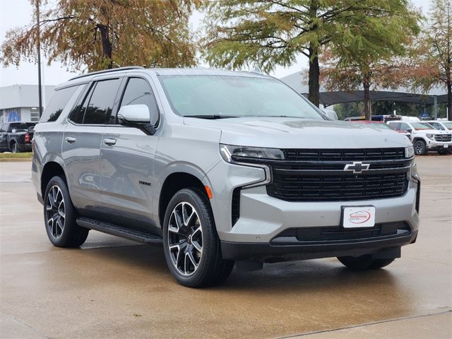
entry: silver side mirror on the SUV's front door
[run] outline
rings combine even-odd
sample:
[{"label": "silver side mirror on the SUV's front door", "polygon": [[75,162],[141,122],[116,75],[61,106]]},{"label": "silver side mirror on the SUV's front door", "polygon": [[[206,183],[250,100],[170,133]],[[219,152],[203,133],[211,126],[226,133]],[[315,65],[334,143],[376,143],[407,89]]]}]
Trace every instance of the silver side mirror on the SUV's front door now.
[{"label": "silver side mirror on the SUV's front door", "polygon": [[119,109],[119,124],[141,129],[148,135],[155,133],[155,127],[150,124],[149,107],[146,105],[126,105]]}]

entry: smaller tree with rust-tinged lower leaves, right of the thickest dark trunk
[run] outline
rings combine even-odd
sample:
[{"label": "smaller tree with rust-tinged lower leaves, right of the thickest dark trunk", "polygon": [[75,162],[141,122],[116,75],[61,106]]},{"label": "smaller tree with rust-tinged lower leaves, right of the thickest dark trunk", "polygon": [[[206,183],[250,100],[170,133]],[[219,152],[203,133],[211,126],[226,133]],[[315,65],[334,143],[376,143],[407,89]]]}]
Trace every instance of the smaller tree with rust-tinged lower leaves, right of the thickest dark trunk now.
[{"label": "smaller tree with rust-tinged lower leaves, right of the thickest dark trunk", "polygon": [[323,70],[328,90],[364,89],[364,116],[371,117],[371,85],[395,89],[406,85],[410,69],[405,58],[419,33],[420,13],[405,1],[391,1],[384,16],[367,19],[343,40],[328,46]]}]

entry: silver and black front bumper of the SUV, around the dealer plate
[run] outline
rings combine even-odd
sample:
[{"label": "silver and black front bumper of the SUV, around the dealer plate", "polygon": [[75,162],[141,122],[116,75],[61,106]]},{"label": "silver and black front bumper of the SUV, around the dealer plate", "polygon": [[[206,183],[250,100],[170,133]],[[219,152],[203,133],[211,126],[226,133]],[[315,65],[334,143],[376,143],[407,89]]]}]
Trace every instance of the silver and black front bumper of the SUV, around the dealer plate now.
[{"label": "silver and black front bumper of the SUV, around the dealer plate", "polygon": [[[220,237],[222,256],[235,260],[277,261],[330,256],[371,254],[413,242],[417,236],[418,182],[409,181],[405,195],[364,201],[290,202],[268,196],[265,186],[242,188],[239,194],[239,218],[233,219],[232,193],[237,187],[265,179],[261,168],[219,162],[206,177],[213,188],[210,200]],[[402,222],[393,234],[359,239],[302,241],[281,239],[286,230],[300,234],[312,227],[340,228],[342,206],[371,205],[376,208],[376,225]],[[302,238],[302,237],[301,237]],[[284,240],[284,241],[283,241]]]}]

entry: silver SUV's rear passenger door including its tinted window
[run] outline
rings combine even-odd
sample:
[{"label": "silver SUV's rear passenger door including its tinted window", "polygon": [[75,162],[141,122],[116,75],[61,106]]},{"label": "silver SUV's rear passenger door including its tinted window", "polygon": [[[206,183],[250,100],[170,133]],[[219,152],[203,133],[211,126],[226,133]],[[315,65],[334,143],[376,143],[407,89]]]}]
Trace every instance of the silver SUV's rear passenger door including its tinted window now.
[{"label": "silver SUV's rear passenger door including its tinted window", "polygon": [[99,218],[100,149],[105,126],[117,107],[117,92],[122,78],[93,81],[69,116],[64,131],[62,156],[68,174],[74,206],[82,215]]}]

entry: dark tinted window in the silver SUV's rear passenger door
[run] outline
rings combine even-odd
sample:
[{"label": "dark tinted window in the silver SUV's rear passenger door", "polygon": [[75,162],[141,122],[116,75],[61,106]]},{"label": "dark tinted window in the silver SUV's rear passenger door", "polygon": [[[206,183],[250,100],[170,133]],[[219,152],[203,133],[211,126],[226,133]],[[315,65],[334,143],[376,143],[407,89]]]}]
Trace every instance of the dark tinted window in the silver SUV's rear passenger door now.
[{"label": "dark tinted window in the silver SUV's rear passenger door", "polygon": [[86,107],[83,124],[108,124],[121,79],[98,81]]}]

